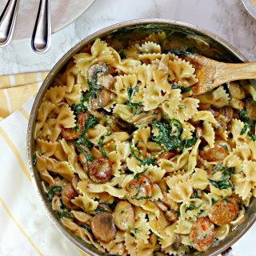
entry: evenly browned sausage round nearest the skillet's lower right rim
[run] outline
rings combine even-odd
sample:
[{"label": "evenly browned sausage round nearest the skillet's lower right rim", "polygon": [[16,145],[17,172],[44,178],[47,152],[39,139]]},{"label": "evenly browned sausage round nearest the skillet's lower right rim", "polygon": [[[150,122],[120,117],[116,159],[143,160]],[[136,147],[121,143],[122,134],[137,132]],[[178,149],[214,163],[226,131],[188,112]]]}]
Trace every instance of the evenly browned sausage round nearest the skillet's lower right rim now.
[{"label": "evenly browned sausage round nearest the skillet's lower right rim", "polygon": [[238,211],[238,202],[234,198],[224,198],[210,208],[209,218],[216,225],[224,225],[234,221]]}]

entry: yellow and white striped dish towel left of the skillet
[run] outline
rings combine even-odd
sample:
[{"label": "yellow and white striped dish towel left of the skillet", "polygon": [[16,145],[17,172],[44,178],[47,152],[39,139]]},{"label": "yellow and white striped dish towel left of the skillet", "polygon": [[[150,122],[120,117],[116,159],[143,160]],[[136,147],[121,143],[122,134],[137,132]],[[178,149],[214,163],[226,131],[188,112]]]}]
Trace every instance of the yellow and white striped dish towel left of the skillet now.
[{"label": "yellow and white striped dish towel left of the skillet", "polygon": [[26,165],[26,129],[34,102],[31,96],[45,76],[46,73],[0,77],[1,256],[86,255],[50,221]]}]

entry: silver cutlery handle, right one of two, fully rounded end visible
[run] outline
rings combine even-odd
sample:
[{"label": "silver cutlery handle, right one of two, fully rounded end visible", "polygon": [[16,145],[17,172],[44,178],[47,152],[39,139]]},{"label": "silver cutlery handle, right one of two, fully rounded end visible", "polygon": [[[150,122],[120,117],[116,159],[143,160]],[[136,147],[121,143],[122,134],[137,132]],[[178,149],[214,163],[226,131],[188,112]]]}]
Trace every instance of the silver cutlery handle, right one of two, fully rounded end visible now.
[{"label": "silver cutlery handle, right one of two, fully rounded end visible", "polygon": [[50,0],[40,0],[38,16],[34,24],[31,47],[37,54],[44,54],[50,49],[51,24]]}]

